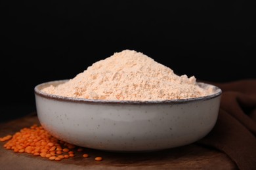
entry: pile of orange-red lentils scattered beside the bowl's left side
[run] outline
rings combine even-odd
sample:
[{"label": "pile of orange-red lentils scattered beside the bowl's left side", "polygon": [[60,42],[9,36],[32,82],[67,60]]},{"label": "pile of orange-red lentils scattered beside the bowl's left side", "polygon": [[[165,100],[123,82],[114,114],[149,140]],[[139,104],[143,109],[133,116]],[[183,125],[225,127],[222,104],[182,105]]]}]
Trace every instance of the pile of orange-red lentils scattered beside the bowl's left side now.
[{"label": "pile of orange-red lentils scattered beside the bowl's left side", "polygon": [[[33,156],[41,156],[49,160],[60,161],[64,158],[74,157],[74,144],[65,143],[51,136],[42,126],[33,125],[30,128],[20,129],[14,135],[0,137],[0,142],[5,142],[3,146],[7,150],[13,150],[18,153],[33,154]],[[62,148],[62,146],[66,148]],[[77,152],[83,151],[83,148],[77,148]],[[63,154],[66,152],[67,154]],[[58,154],[58,155],[56,155]],[[88,158],[88,154],[83,154],[84,158]],[[96,157],[96,161],[101,161],[102,157]]]}]

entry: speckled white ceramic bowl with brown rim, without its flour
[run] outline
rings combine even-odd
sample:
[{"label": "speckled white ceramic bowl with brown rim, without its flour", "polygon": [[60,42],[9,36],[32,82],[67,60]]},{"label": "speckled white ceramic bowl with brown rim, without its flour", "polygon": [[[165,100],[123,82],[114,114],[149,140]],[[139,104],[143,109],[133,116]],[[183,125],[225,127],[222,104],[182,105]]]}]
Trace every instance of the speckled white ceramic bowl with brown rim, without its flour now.
[{"label": "speckled white ceramic bowl with brown rim, without its flour", "polygon": [[65,81],[35,87],[41,125],[62,141],[115,152],[145,152],[194,143],[215,126],[221,100],[217,87],[213,95],[170,101],[104,101],[41,92],[50,84]]}]

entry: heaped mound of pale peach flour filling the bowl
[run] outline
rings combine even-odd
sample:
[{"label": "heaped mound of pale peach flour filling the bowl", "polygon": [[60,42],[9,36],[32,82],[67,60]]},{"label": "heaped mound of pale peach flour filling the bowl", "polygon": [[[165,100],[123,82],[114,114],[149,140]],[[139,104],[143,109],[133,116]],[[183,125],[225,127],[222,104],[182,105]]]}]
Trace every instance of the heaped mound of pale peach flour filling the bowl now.
[{"label": "heaped mound of pale peach flour filling the bowl", "polygon": [[213,90],[200,88],[194,76],[175,75],[169,67],[140,52],[123,50],[43,92],[85,99],[145,101],[201,97]]}]

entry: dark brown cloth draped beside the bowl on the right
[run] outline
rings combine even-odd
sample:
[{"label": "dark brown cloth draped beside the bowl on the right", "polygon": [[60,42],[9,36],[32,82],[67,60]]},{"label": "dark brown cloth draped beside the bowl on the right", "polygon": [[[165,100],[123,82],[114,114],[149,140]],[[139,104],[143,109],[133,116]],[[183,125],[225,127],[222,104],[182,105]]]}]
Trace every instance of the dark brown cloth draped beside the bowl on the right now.
[{"label": "dark brown cloth draped beside the bowl on the right", "polygon": [[211,83],[223,90],[213,130],[198,141],[223,151],[239,169],[256,169],[256,80]]}]

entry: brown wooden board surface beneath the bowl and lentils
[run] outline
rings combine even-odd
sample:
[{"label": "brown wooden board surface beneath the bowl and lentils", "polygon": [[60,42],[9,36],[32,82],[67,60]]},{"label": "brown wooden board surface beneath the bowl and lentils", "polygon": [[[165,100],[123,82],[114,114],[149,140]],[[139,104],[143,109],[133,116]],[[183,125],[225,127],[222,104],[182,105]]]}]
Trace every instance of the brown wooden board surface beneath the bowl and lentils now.
[{"label": "brown wooden board surface beneath the bowl and lentils", "polygon": [[[24,127],[38,124],[36,114],[0,124],[0,137],[14,134]],[[237,169],[236,165],[222,152],[189,144],[156,152],[117,153],[84,148],[75,152],[74,158],[51,161],[40,156],[15,153],[0,142],[0,169]],[[83,158],[83,153],[89,158]],[[102,156],[103,161],[95,161]]]}]

